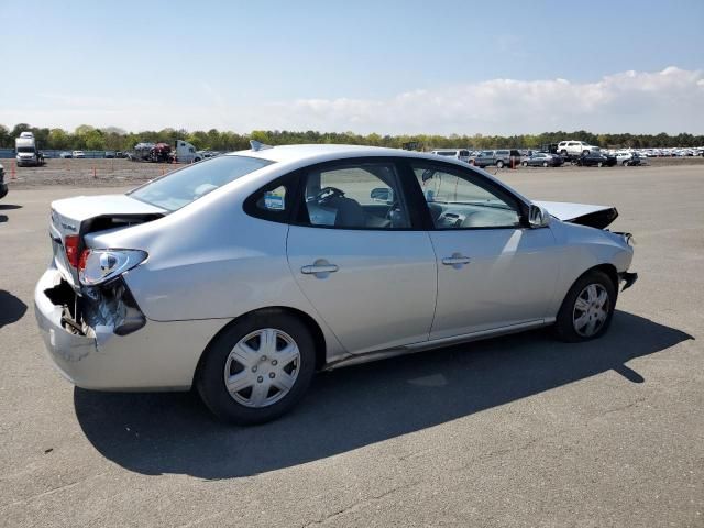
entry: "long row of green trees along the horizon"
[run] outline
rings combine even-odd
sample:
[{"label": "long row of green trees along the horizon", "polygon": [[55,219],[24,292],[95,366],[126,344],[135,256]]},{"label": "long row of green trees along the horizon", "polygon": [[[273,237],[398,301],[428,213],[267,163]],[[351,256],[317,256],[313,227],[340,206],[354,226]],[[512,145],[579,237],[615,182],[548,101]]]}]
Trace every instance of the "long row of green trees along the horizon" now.
[{"label": "long row of green trees along the horizon", "polygon": [[14,139],[21,132],[31,131],[36,138],[40,148],[44,150],[86,150],[86,151],[130,151],[140,142],[165,142],[174,144],[175,140],[185,140],[197,150],[238,151],[250,147],[250,140],[261,141],[270,145],[292,143],[345,143],[353,145],[388,146],[403,148],[410,146],[417,150],[470,147],[470,148],[537,148],[547,143],[563,140],[585,141],[590,144],[619,147],[673,147],[704,146],[704,135],[681,133],[676,135],[660,134],[593,134],[584,130],[573,132],[543,132],[541,134],[518,135],[380,135],[355,134],[354,132],[317,132],[288,130],[254,130],[249,134],[231,131],[188,132],[180,129],[150,130],[127,132],[116,127],[96,128],[88,124],[77,127],[73,132],[64,129],[31,127],[28,123],[15,124],[12,129],[0,124],[0,147],[14,148]]}]

